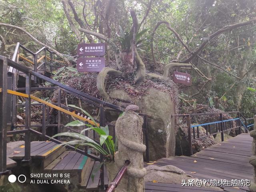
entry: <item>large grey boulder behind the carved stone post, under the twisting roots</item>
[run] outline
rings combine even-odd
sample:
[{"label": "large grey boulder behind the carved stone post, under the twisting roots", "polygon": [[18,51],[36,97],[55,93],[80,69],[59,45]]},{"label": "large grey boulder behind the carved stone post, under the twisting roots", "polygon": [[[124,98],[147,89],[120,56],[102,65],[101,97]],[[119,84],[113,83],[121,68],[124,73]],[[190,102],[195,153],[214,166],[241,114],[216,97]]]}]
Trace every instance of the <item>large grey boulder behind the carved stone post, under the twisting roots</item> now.
[{"label": "large grey boulder behind the carved stone post, under the twisting roots", "polygon": [[143,95],[132,98],[122,89],[112,90],[111,98],[134,103],[139,106],[141,113],[149,114],[148,140],[150,160],[162,157],[174,156],[175,154],[175,114],[174,101],[168,92],[156,88],[147,88]]}]

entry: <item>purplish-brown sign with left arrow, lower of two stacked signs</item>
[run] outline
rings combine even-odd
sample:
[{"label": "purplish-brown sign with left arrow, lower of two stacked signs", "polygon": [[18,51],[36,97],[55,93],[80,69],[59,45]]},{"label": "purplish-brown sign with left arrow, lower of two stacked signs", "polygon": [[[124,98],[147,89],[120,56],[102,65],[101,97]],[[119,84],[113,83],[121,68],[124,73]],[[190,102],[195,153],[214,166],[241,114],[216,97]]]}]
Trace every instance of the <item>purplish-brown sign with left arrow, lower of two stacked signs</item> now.
[{"label": "purplish-brown sign with left arrow, lower of two stacked signs", "polygon": [[76,62],[78,72],[100,72],[104,67],[104,57],[80,57]]}]

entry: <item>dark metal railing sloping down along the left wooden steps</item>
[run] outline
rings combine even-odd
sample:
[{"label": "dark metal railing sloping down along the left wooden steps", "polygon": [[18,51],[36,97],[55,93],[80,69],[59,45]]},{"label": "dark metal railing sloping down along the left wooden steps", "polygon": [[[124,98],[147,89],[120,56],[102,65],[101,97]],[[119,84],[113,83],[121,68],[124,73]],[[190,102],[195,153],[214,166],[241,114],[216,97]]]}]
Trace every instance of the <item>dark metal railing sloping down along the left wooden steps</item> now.
[{"label": "dark metal railing sloping down along the left wooden steps", "polygon": [[[10,66],[10,68],[13,68],[15,70],[21,71],[24,74],[26,74],[26,87],[24,88],[17,88],[17,87],[13,87],[14,91],[25,91],[24,97],[26,98],[26,102],[25,104],[16,104],[16,102],[14,102],[14,106],[12,106],[12,119],[14,121],[12,121],[12,126],[13,128],[16,127],[24,127],[23,130],[11,130],[11,131],[7,131],[6,130],[6,126],[7,126],[7,104],[6,104],[6,98],[7,97],[7,92],[8,92],[8,83],[7,83],[7,68],[8,66]],[[10,72],[9,72],[10,74]],[[44,87],[44,88],[31,88],[31,76],[34,76],[36,78],[42,79],[45,82],[49,82],[50,84],[52,84],[53,86],[51,87]],[[58,114],[57,114],[57,123],[56,124],[50,124],[49,123],[49,106],[54,105],[54,104],[47,104],[45,102],[39,103],[39,104],[32,104],[31,103],[31,99],[33,98],[32,96],[30,96],[31,94],[31,90],[55,90],[58,91],[58,101],[55,103],[56,107],[59,108],[64,108],[64,105],[61,103],[61,95],[62,93],[68,93],[71,94],[72,96],[75,96],[76,98],[82,100],[83,102],[87,102],[88,104],[93,105],[94,107],[99,108],[99,124],[100,126],[105,126],[106,125],[106,111],[115,111],[115,112],[123,112],[124,108],[116,106],[114,104],[108,103],[108,102],[104,102],[98,98],[94,98],[88,94],[85,94],[81,91],[78,91],[74,88],[71,88],[69,86],[66,86],[60,82],[57,82],[55,80],[52,80],[51,78],[48,78],[42,74],[39,74],[37,72],[35,72],[34,70],[31,70],[29,68],[27,68],[26,66],[22,66],[21,64],[18,64],[15,61],[12,61],[4,56],[0,56],[0,172],[4,173],[6,172],[6,136],[7,135],[14,135],[14,134],[25,134],[25,155],[24,155],[24,162],[30,162],[30,134],[37,134],[39,136],[42,136],[42,138],[47,139],[47,140],[51,140],[53,142],[56,142],[58,144],[62,143],[60,141],[60,138],[58,139],[54,139],[51,138],[50,136],[46,135],[46,128],[47,127],[54,127],[54,126],[58,126],[58,132],[61,132],[61,129],[63,127],[63,125],[61,124],[61,112],[60,110],[58,110]],[[10,91],[9,91],[10,92]],[[21,93],[22,94],[22,93]],[[25,96],[26,95],[26,96]],[[15,96],[15,95],[13,95]],[[34,97],[35,99],[35,97]],[[16,96],[13,98],[14,101],[16,101]],[[16,126],[16,107],[18,106],[25,106],[25,124],[24,125],[19,125]],[[42,127],[42,132],[36,131],[31,129],[31,106],[42,106],[42,125],[37,125],[39,127]],[[55,108],[56,108],[55,107]],[[8,106],[8,108],[10,108],[10,106]],[[66,107],[68,108],[68,107]],[[139,114],[140,116],[142,116],[144,118],[144,125],[143,125],[143,130],[145,133],[145,137],[146,137],[146,146],[147,146],[147,151],[146,151],[146,157],[147,157],[147,161],[148,161],[148,115],[147,114]],[[88,133],[85,133],[88,134]],[[115,132],[114,132],[114,126],[113,126],[113,134],[115,136]],[[95,134],[94,134],[94,139],[95,139]],[[67,148],[70,148],[72,150],[75,150],[75,148],[73,146],[67,146]],[[103,160],[103,156],[101,155],[100,157],[95,156],[93,154],[88,154],[87,150],[80,150],[80,149],[76,149],[77,152],[86,155],[94,160],[98,160],[98,161],[102,161]],[[103,165],[104,166],[104,165]],[[101,168],[101,174],[100,174],[100,186],[101,188],[104,188],[104,167]]]}]

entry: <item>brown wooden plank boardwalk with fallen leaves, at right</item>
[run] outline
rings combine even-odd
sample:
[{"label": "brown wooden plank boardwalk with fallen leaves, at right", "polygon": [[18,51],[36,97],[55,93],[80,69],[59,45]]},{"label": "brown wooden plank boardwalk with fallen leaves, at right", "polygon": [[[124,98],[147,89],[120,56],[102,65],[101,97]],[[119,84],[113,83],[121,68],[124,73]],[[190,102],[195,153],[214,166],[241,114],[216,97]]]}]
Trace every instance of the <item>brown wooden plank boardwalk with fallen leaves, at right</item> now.
[{"label": "brown wooden plank boardwalk with fallen leaves, at right", "polygon": [[[162,158],[154,165],[174,165],[187,174],[206,180],[245,180],[253,181],[253,167],[249,163],[252,156],[252,137],[240,134],[208,147],[192,156]],[[181,184],[146,183],[146,192],[201,192],[216,191],[210,188],[182,186]],[[248,187],[224,187],[224,191],[245,192]]]}]

